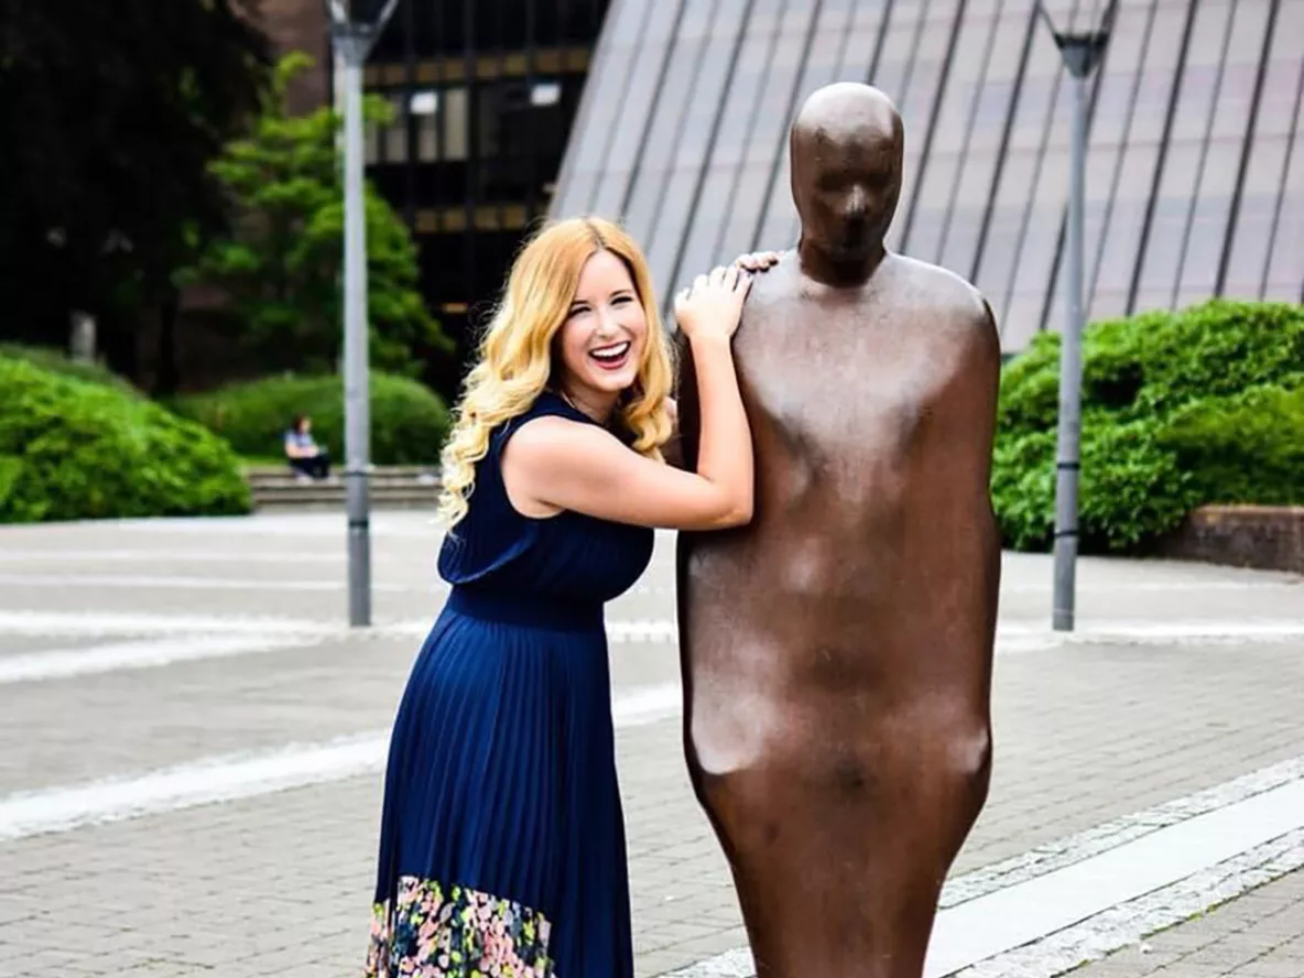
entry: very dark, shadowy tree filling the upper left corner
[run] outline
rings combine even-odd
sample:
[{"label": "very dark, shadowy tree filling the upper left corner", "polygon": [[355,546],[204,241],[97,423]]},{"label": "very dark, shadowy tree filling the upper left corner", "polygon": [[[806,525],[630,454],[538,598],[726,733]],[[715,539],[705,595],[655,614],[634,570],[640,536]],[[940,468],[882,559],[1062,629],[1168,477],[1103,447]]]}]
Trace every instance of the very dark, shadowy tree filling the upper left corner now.
[{"label": "very dark, shadowy tree filling the upper left corner", "polygon": [[[130,373],[143,309],[222,228],[209,163],[271,64],[256,0],[0,4],[0,304],[13,338],[64,346],[103,317]],[[116,329],[115,329],[116,322]]]}]

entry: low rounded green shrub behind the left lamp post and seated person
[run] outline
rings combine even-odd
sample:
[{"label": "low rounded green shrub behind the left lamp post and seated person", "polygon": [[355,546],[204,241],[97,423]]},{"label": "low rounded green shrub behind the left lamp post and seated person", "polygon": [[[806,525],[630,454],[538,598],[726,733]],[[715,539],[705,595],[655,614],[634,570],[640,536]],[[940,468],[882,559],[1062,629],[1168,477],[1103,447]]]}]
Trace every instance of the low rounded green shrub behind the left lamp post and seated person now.
[{"label": "low rounded green shrub behind the left lamp post and seated person", "polygon": [[[378,466],[434,464],[449,434],[443,400],[429,387],[373,373],[372,460]],[[173,408],[253,458],[284,458],[282,439],[295,415],[313,420],[313,437],[344,458],[344,385],[339,377],[269,377],[179,398]]]}]

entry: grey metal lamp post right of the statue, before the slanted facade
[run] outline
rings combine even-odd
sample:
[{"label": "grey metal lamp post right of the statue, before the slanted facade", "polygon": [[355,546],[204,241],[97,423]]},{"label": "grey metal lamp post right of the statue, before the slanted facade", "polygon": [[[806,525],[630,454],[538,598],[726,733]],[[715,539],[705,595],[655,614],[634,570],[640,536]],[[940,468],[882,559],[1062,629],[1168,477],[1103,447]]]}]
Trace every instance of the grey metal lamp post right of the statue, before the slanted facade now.
[{"label": "grey metal lamp post right of the statue, before the slanted facade", "polygon": [[1101,25],[1058,30],[1041,0],[1037,10],[1055,38],[1073,83],[1073,147],[1068,207],[1068,322],[1060,343],[1059,434],[1055,460],[1055,592],[1052,627],[1073,630],[1077,562],[1077,477],[1082,434],[1082,226],[1086,184],[1086,81],[1104,53],[1118,0],[1110,0]]}]

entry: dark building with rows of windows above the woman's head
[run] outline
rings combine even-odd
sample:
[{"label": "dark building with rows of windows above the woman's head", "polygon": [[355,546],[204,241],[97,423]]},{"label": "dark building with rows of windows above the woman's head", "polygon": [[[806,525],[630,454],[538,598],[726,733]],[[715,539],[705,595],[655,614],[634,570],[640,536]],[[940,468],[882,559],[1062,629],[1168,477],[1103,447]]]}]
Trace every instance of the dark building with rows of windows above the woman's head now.
[{"label": "dark building with rows of windows above the woman's head", "polygon": [[394,108],[368,132],[368,177],[413,230],[422,292],[464,352],[548,214],[606,7],[402,0],[368,61],[368,93]]}]

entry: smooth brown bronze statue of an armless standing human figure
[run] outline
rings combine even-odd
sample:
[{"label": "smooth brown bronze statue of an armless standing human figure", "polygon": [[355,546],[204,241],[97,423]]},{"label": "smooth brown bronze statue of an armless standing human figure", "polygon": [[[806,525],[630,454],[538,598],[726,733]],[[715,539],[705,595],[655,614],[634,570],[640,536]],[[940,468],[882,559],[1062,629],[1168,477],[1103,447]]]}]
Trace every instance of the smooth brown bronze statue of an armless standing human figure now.
[{"label": "smooth brown bronze statue of an armless standing human figure", "polygon": [[734,339],[756,515],[679,537],[685,747],[758,978],[919,978],[987,798],[1000,348],[971,286],[884,248],[902,142],[867,85],[802,107],[801,240]]}]

